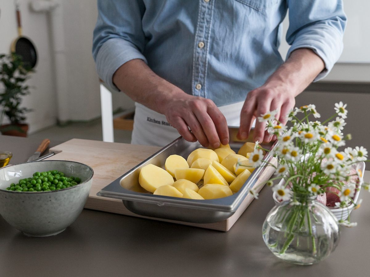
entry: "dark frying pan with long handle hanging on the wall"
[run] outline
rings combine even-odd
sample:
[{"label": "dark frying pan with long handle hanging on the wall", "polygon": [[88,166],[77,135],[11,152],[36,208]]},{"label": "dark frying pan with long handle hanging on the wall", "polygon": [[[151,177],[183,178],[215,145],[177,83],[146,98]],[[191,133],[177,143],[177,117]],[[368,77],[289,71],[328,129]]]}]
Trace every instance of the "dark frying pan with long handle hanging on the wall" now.
[{"label": "dark frying pan with long handle hanging on the wall", "polygon": [[33,43],[26,37],[22,36],[21,12],[19,4],[16,5],[18,37],[11,44],[11,52],[20,55],[25,68],[34,68],[37,62],[37,52]]}]

